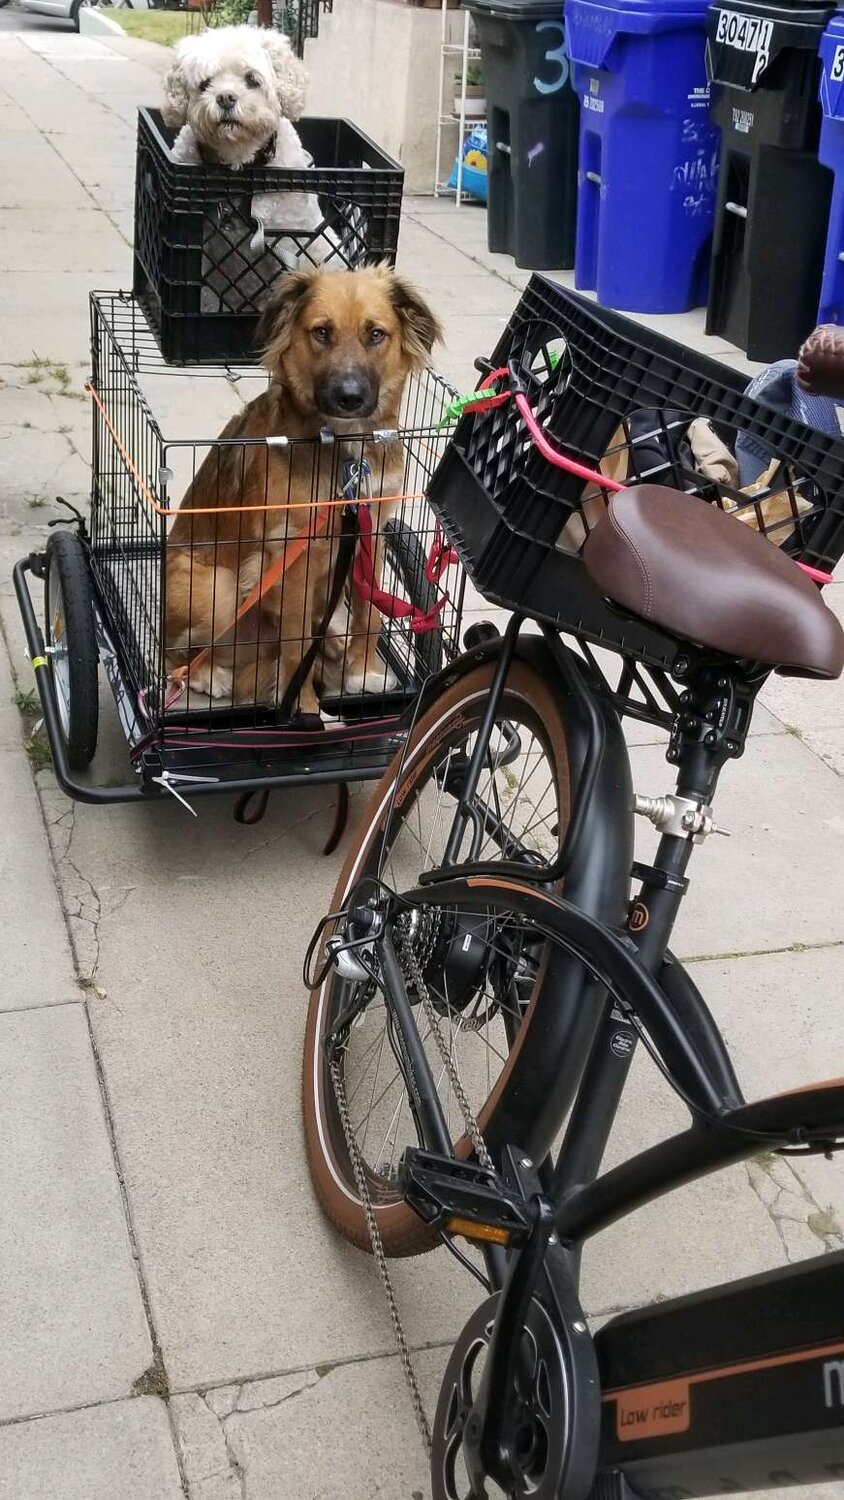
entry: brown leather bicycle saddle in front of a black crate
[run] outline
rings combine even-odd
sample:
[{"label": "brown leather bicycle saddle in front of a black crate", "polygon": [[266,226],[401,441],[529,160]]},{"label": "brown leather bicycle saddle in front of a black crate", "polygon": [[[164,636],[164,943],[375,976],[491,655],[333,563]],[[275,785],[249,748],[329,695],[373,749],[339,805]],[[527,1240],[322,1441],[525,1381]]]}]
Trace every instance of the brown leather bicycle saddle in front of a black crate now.
[{"label": "brown leather bicycle saddle in front of a black crate", "polygon": [[612,495],[583,562],[606,598],[673,636],[792,676],[840,676],[844,630],[820,591],[757,531],[694,495]]}]

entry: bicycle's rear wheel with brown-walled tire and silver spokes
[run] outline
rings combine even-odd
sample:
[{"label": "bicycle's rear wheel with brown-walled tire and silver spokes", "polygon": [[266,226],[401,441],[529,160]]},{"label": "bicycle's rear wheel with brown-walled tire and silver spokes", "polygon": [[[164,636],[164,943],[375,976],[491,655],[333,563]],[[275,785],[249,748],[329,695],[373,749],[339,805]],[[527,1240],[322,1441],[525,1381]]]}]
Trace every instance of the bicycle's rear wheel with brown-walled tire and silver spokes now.
[{"label": "bicycle's rear wheel with brown-walled tire and silver spokes", "polygon": [[[381,866],[396,891],[411,888],[420,873],[439,864],[453,822],[462,768],[468,764],[489,700],[495,666],[486,663],[454,682],[421,717],[403,764],[397,758],[363,819],[331,909]],[[397,777],[400,772],[400,782]],[[538,672],[516,662],[499,705],[490,758],[475,796],[483,818],[480,858],[547,864],[565,837],[570,810],[570,770],[565,726],[553,692]],[[466,849],[462,849],[463,858]],[[405,921],[405,918],[402,918]],[[514,1059],[534,1016],[546,944],[526,924],[514,926],[493,944],[477,914],[421,914],[418,928],[397,934],[412,942],[435,1008],[448,1034],[463,1089],[475,1118],[492,1140]],[[384,1248],[412,1256],[432,1248],[421,1224],[397,1190],[397,1166],[405,1146],[417,1143],[402,1072],[390,1046],[387,1011],[372,981],[357,1023],[339,1058],[354,1131],[372,1191]],[[325,1054],[337,1017],[349,1004],[351,981],[330,970],[310,998],[304,1044],[304,1130],[310,1173],[322,1209],[352,1244],[369,1250],[361,1200],[337,1110]],[[414,996],[411,996],[414,999]],[[418,996],[415,998],[418,1002]],[[420,1034],[456,1150],[468,1155],[463,1122],[436,1052],[436,1038]]]}]

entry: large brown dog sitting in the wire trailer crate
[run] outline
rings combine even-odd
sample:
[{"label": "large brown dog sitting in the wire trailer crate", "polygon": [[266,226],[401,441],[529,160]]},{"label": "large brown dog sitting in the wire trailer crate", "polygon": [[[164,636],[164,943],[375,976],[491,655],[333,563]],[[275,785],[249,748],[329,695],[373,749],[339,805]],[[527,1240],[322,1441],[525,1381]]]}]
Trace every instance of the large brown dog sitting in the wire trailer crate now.
[{"label": "large brown dog sitting in the wire trailer crate", "polygon": [[[168,537],[168,663],[196,660],[192,690],[235,704],[282,702],[325,614],[337,555],[339,507],[309,537],[321,507],[337,495],[343,452],[342,442],[319,444],[319,434],[358,440],[348,442],[348,456],[363,452],[370,465],[378,534],[378,512],[400,490],[405,454],[397,441],[361,444],[360,436],[399,426],[405,382],[439,336],[420,294],[387,267],[280,279],[258,330],[270,387],[223,428]],[[229,630],[297,537],[309,537],[307,544]],[[352,591],[348,620],[318,654],[321,675],[339,669],[346,692],[366,692],[367,674],[373,686],[376,675],[384,684],[379,627],[376,610]],[[318,712],[313,663],[297,698],[301,712]]]}]

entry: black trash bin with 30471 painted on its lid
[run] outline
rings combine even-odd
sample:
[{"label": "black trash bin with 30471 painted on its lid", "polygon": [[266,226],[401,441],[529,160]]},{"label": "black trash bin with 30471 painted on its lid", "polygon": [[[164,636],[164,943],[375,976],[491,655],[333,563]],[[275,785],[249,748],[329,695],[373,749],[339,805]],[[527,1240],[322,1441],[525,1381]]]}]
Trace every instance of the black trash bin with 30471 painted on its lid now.
[{"label": "black trash bin with 30471 painted on its lid", "polygon": [[817,50],[834,10],[735,0],[708,16],[721,165],[706,332],[751,360],[793,357],[817,320],[834,180],[817,159]]}]

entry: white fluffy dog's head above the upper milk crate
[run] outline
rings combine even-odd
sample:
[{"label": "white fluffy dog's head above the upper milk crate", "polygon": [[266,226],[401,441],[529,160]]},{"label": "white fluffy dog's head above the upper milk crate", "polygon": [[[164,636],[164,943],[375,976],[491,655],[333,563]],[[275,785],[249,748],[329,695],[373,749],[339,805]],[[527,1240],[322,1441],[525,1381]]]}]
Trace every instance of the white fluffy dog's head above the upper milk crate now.
[{"label": "white fluffy dog's head above the upper milk crate", "polygon": [[208,156],[240,166],[304,110],[307,74],[286,38],[250,26],[186,36],[165,78],[163,118],[187,124]]}]

